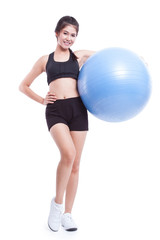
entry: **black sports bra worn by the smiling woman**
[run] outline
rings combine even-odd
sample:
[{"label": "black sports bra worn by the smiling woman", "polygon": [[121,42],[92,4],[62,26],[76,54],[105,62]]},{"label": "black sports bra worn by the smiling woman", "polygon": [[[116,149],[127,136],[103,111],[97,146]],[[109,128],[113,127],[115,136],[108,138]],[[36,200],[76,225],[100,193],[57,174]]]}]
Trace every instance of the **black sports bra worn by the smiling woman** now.
[{"label": "black sports bra worn by the smiling woman", "polygon": [[47,82],[48,85],[58,78],[74,78],[78,79],[79,64],[75,59],[71,49],[69,60],[66,62],[56,62],[54,60],[54,52],[49,54],[48,61],[46,64]]}]

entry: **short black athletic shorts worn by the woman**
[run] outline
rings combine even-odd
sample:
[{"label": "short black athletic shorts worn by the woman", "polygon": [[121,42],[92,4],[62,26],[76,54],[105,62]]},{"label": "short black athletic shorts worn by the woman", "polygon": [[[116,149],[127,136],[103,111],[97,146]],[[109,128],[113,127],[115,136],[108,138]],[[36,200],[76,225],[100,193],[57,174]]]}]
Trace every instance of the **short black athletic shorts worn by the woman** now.
[{"label": "short black athletic shorts worn by the woman", "polygon": [[88,114],[80,97],[58,99],[46,107],[48,130],[57,123],[66,124],[70,131],[87,131]]}]

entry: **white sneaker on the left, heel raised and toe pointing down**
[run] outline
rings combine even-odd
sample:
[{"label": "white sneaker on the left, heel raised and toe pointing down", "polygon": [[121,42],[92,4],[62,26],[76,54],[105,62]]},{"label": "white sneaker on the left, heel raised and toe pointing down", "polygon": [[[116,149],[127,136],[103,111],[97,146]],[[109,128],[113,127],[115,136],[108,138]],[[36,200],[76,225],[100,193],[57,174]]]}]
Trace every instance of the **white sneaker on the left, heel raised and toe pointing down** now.
[{"label": "white sneaker on the left, heel raised and toe pointing down", "polygon": [[59,230],[59,227],[61,225],[62,212],[63,205],[56,203],[55,200],[52,199],[48,217],[48,226],[54,232],[57,232]]}]

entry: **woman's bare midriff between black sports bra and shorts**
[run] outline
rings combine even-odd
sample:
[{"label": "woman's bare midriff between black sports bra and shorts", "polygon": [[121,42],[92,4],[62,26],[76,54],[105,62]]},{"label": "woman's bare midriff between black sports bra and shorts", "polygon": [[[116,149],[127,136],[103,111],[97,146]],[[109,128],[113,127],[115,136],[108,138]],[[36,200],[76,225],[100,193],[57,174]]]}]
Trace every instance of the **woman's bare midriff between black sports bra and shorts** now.
[{"label": "woman's bare midriff between black sports bra and shorts", "polygon": [[50,93],[54,93],[57,99],[78,97],[77,80],[73,78],[59,78],[49,84]]}]

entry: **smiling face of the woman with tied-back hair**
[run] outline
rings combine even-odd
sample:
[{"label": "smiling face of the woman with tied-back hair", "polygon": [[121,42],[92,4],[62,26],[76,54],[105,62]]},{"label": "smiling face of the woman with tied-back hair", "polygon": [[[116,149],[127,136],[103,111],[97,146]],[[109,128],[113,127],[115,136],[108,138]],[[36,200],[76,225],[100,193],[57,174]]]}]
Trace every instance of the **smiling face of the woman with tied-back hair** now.
[{"label": "smiling face of the woman with tied-back hair", "polygon": [[76,40],[77,31],[73,25],[64,27],[59,33],[56,33],[58,44],[64,48],[70,48]]}]

